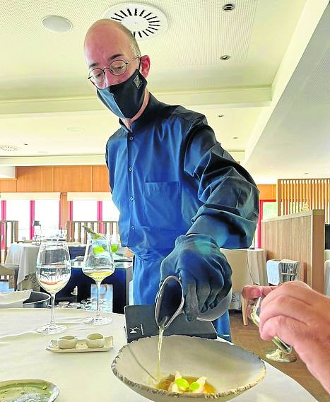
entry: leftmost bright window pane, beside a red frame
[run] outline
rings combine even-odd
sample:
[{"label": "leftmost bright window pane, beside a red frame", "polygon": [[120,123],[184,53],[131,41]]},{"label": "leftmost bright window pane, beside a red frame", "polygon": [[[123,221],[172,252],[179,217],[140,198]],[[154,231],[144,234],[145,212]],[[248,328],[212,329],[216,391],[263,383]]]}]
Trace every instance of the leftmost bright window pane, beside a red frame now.
[{"label": "leftmost bright window pane, beside a red frame", "polygon": [[18,239],[30,239],[30,201],[8,199],[6,220],[18,220]]}]

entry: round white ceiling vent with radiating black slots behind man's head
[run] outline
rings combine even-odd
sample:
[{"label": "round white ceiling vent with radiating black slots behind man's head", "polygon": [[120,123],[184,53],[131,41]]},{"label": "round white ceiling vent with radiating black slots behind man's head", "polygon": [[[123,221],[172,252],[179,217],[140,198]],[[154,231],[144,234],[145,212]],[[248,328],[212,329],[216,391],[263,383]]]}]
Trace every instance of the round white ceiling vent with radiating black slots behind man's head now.
[{"label": "round white ceiling vent with radiating black slots behind man's head", "polygon": [[165,14],[146,4],[118,4],[109,8],[103,18],[122,23],[136,40],[153,39],[167,30]]}]

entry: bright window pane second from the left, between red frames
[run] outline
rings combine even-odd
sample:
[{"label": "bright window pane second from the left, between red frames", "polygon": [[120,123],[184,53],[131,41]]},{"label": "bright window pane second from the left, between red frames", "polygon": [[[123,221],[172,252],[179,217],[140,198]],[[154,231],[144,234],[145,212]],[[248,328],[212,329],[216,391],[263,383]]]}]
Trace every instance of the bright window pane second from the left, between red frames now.
[{"label": "bright window pane second from the left, between red frames", "polygon": [[35,200],[35,220],[40,221],[42,236],[51,237],[59,232],[59,200]]}]

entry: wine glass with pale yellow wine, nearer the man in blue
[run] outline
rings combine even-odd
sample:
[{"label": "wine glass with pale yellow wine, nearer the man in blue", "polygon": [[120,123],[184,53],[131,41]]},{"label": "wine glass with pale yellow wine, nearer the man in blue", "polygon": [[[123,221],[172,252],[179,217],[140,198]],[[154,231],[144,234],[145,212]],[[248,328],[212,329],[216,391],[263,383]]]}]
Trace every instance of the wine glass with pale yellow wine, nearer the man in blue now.
[{"label": "wine glass with pale yellow wine, nearer the man in blue", "polygon": [[87,318],[86,324],[105,325],[112,319],[100,315],[100,287],[103,279],[114,273],[114,259],[112,258],[110,239],[88,237],[85,258],[83,259],[83,273],[95,280],[98,288],[96,300],[96,316]]}]

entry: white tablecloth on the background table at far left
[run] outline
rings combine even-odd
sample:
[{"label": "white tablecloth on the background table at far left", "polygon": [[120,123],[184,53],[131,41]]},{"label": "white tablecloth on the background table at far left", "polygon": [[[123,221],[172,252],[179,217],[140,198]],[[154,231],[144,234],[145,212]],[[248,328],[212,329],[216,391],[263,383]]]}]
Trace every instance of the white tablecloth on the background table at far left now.
[{"label": "white tablecloth on the background table at far left", "polygon": [[18,270],[17,283],[23,280],[30,274],[35,274],[35,262],[39,246],[26,243],[13,243],[6,256],[5,264],[16,264],[20,268]]}]

